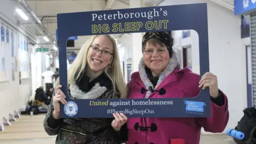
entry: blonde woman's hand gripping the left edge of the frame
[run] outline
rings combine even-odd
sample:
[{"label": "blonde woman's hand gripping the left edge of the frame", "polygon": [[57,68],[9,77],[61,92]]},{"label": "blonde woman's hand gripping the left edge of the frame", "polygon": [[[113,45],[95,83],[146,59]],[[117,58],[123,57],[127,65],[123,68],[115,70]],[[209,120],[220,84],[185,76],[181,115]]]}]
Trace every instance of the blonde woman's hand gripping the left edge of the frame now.
[{"label": "blonde woman's hand gripping the left edge of the frame", "polygon": [[60,117],[60,102],[63,105],[67,104],[66,95],[60,90],[61,87],[62,87],[62,85],[58,85],[55,88],[55,91],[57,91],[57,92],[52,99],[53,107],[54,107],[54,111],[53,111],[54,117]]}]

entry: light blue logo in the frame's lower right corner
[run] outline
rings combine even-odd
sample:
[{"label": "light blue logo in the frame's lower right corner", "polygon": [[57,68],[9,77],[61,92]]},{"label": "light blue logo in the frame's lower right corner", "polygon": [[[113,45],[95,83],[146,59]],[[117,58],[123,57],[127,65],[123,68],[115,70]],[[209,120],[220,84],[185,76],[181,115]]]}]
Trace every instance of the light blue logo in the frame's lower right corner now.
[{"label": "light blue logo in the frame's lower right corner", "polygon": [[184,101],[186,105],[186,110],[187,111],[195,111],[199,113],[204,113],[204,102],[199,102],[199,101]]}]

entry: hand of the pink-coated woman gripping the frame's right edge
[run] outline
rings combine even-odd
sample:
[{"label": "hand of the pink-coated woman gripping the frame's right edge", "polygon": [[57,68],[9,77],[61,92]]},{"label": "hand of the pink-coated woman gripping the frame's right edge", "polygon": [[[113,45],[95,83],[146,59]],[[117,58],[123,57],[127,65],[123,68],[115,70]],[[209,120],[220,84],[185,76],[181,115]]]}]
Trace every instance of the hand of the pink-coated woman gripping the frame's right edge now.
[{"label": "hand of the pink-coated woman gripping the frame's right edge", "polygon": [[219,95],[217,76],[213,75],[210,72],[207,72],[202,76],[201,80],[199,81],[199,87],[203,90],[206,87],[209,87],[210,95],[213,98],[217,98]]}]

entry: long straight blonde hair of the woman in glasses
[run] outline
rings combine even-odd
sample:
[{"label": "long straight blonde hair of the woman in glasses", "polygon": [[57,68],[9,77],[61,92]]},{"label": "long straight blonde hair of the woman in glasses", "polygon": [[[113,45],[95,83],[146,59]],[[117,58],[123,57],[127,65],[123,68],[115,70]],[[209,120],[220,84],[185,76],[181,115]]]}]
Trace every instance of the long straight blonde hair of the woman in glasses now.
[{"label": "long straight blonde hair of the woman in glasses", "polygon": [[[112,62],[110,64],[111,69],[109,67],[106,67],[103,70],[103,73],[105,73],[111,80],[113,84],[113,98],[115,97],[115,94],[117,92],[120,93],[120,98],[126,98],[127,97],[127,85],[124,81],[124,77],[122,75],[121,71],[121,64],[119,62],[119,54],[117,50],[117,44],[115,41],[115,38],[111,35],[105,35],[107,36],[113,43],[114,46],[114,52],[113,52],[113,58]],[[90,45],[93,43],[95,37],[97,35],[91,36],[82,46],[81,50],[79,50],[76,59],[73,61],[72,65],[68,69],[68,83],[69,84],[75,84],[76,80],[83,75],[85,67],[87,66],[87,54]],[[60,81],[59,78],[56,81],[56,85],[59,85]]]}]

